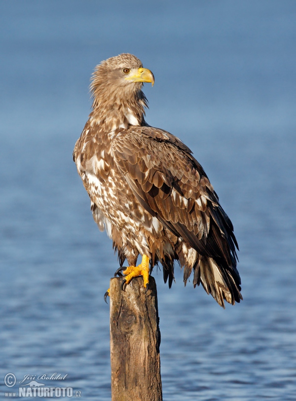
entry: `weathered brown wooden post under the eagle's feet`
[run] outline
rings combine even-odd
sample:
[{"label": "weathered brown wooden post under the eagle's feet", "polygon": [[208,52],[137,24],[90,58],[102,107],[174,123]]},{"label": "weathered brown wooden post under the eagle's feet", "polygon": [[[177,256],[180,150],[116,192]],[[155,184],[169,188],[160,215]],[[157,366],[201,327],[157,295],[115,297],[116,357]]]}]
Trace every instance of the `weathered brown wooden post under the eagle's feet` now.
[{"label": "weathered brown wooden post under the eagle's feet", "polygon": [[112,401],[162,401],[156,284],[134,278],[125,291],[110,282]]}]

